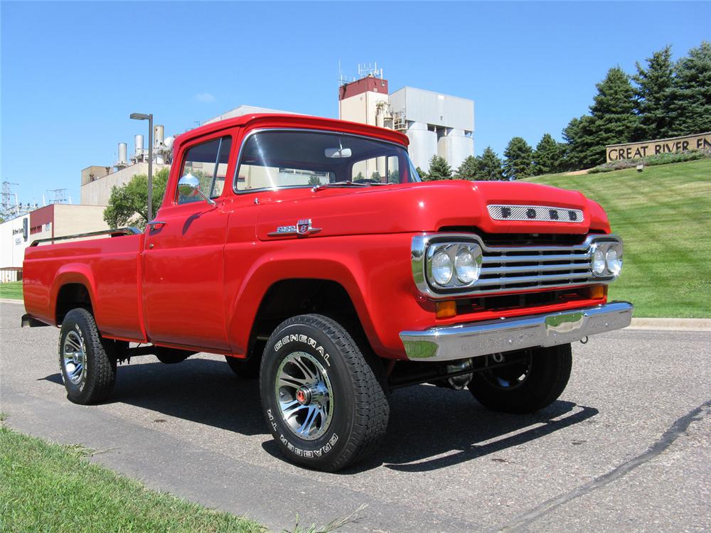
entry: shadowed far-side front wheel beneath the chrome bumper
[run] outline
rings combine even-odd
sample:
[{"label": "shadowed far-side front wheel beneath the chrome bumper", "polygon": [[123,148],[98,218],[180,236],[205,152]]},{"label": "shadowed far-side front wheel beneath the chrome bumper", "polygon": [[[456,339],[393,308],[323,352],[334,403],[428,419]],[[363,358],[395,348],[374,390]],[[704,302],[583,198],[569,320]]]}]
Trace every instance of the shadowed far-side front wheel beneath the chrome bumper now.
[{"label": "shadowed far-side front wheel beneath the chrome bumper", "polygon": [[[510,357],[520,355],[518,352]],[[475,372],[469,391],[493,411],[532,413],[552,404],[562,394],[571,366],[570,344],[525,350],[521,362]]]}]

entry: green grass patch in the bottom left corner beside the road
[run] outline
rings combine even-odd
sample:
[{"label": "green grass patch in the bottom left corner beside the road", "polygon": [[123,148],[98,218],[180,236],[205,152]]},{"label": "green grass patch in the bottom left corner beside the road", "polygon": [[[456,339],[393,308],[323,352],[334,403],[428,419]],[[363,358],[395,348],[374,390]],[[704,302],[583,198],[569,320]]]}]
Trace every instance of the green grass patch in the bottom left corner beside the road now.
[{"label": "green grass patch in the bottom left corner beside the road", "polygon": [[87,451],[0,427],[0,531],[264,532],[235,517],[147,489],[87,461]]}]

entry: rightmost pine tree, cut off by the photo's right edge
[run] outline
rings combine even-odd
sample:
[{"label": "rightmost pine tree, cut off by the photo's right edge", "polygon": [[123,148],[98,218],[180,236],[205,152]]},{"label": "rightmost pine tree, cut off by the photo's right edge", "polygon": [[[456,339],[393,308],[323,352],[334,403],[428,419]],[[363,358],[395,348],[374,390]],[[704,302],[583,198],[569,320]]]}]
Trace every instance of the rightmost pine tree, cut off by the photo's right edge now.
[{"label": "rightmost pine tree, cut off by the photo's right edge", "polygon": [[711,131],[711,42],[698,48],[675,65],[676,79],[672,90],[673,135]]}]

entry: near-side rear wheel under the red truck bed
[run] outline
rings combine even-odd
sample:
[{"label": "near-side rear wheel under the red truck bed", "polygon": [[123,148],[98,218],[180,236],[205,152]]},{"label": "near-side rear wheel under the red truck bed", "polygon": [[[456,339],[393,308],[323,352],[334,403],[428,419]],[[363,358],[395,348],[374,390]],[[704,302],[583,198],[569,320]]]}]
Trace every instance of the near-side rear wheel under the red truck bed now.
[{"label": "near-side rear wheel under the red truck bed", "polygon": [[59,335],[59,366],[67,397],[75,404],[106,399],[116,381],[113,344],[102,340],[92,314],[72,309]]}]

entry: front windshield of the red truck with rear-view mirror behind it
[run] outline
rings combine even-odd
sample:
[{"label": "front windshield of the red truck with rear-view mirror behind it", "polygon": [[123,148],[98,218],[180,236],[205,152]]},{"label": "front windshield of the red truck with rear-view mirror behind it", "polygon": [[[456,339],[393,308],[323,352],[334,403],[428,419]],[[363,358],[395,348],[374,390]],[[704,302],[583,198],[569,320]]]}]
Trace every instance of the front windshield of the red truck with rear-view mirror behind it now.
[{"label": "front windshield of the red truck with rear-view mirror behind it", "polygon": [[330,183],[420,181],[407,151],[365,137],[314,131],[260,131],[242,147],[236,190]]}]

